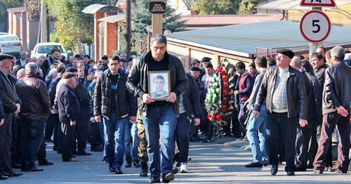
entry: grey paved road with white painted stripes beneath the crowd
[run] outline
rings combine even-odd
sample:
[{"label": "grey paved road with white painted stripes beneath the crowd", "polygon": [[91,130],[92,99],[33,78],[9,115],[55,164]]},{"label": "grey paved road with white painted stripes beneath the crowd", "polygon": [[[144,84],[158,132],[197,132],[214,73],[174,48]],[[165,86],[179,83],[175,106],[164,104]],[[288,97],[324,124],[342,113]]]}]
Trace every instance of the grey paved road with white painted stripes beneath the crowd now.
[{"label": "grey paved road with white painted stripes beneath the crowd", "polygon": [[[48,160],[53,166],[41,167],[42,172],[25,173],[0,183],[147,183],[149,178],[140,178],[139,169],[123,168],[123,175],[107,171],[107,164],[101,162],[101,152],[79,157],[79,162],[63,163],[60,155],[48,146]],[[89,149],[87,149],[89,150]],[[218,143],[195,143],[190,146],[189,164],[191,173],[178,173],[173,183],[350,183],[351,174],[314,175],[310,169],[286,176],[284,166],[279,167],[277,176],[270,175],[270,167],[246,169],[244,164],[251,161],[251,152],[239,147]]]}]

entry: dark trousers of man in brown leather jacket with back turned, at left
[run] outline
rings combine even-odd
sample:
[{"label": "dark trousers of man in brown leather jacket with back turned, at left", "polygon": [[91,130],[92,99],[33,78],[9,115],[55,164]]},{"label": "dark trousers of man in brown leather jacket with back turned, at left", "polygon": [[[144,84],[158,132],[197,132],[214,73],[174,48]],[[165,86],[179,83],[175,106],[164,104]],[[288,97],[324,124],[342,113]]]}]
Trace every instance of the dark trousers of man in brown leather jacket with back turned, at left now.
[{"label": "dark trousers of man in brown leather jacket with back turned, at left", "polygon": [[35,166],[35,156],[43,142],[45,120],[26,121],[25,124],[22,125],[22,129],[22,169],[32,169]]}]

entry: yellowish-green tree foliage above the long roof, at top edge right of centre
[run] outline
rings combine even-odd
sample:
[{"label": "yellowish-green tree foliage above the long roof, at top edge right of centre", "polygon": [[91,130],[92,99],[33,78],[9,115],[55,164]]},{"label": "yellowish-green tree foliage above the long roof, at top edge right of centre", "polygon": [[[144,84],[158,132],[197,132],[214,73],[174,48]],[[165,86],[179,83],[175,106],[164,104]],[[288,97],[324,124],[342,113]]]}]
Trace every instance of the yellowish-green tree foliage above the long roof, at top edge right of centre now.
[{"label": "yellowish-green tree foliage above the long roof, at top edge right of centre", "polygon": [[240,0],[197,0],[194,11],[199,15],[236,14]]}]

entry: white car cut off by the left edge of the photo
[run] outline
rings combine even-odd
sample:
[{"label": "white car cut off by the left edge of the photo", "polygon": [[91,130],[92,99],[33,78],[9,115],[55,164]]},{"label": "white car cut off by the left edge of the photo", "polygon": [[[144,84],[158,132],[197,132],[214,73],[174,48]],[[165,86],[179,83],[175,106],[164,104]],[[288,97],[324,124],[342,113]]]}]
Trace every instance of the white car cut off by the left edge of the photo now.
[{"label": "white car cut off by the left edge of the photo", "polygon": [[0,34],[0,53],[7,53],[18,58],[23,47],[20,39],[13,34]]}]

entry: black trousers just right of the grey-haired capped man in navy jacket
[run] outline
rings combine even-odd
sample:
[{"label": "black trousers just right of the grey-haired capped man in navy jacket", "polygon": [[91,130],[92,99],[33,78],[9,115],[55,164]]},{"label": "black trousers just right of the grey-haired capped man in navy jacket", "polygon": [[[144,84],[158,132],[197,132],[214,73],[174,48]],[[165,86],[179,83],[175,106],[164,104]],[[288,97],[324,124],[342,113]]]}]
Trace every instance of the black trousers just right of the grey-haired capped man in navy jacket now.
[{"label": "black trousers just right of the grey-haired capped man in navy jacket", "polygon": [[[88,136],[89,119],[77,119],[76,131],[73,141],[73,152],[86,152],[86,138]],[[75,141],[77,140],[77,142]]]}]

